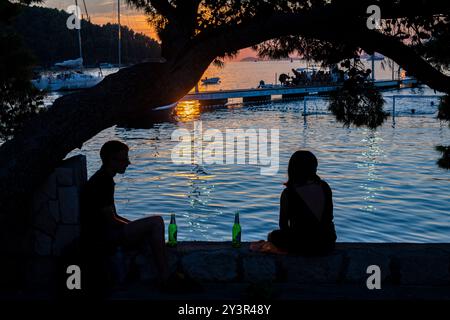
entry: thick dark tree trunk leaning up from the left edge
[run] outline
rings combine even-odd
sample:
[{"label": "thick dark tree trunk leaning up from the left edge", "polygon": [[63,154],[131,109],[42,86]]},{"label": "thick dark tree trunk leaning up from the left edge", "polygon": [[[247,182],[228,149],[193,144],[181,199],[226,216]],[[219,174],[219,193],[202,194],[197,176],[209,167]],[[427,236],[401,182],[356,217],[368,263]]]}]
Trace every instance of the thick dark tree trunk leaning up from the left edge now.
[{"label": "thick dark tree trunk leaning up from the left edge", "polygon": [[72,150],[117,123],[160,116],[152,109],[178,101],[214,59],[186,52],[183,63],[143,63],[97,86],[63,96],[0,148],[0,252],[27,252],[31,194]]}]

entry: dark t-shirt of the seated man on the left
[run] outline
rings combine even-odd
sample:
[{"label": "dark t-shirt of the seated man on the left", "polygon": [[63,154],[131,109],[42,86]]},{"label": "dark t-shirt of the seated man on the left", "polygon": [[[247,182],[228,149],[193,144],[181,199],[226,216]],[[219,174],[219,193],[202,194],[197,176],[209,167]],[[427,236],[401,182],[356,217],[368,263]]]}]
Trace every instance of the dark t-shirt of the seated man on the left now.
[{"label": "dark t-shirt of the seated man on the left", "polygon": [[81,193],[81,236],[91,249],[113,249],[123,238],[123,224],[115,219],[114,179],[102,167]]}]

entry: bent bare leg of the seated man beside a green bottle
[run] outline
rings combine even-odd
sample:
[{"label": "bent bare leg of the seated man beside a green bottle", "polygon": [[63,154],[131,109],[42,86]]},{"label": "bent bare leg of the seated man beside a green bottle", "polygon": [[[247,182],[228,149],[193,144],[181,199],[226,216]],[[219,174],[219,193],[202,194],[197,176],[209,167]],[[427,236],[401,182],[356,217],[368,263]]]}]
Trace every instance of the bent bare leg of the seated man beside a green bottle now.
[{"label": "bent bare leg of the seated man beside a green bottle", "polygon": [[129,222],[125,225],[125,244],[139,245],[149,242],[155,257],[161,280],[169,277],[166,246],[164,240],[164,220],[160,216],[151,216]]}]

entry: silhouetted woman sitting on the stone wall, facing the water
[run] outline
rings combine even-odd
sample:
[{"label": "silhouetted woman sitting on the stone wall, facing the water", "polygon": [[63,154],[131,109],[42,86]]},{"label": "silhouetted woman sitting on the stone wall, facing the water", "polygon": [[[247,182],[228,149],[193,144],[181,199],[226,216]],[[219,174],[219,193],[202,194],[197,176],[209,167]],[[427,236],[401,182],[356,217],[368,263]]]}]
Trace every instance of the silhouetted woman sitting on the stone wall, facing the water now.
[{"label": "silhouetted woman sitting on the stone wall, facing the water", "polygon": [[317,158],[309,151],[296,151],[289,160],[288,181],[280,199],[280,230],[268,237],[280,249],[304,255],[334,249],[331,189],[316,171]]}]

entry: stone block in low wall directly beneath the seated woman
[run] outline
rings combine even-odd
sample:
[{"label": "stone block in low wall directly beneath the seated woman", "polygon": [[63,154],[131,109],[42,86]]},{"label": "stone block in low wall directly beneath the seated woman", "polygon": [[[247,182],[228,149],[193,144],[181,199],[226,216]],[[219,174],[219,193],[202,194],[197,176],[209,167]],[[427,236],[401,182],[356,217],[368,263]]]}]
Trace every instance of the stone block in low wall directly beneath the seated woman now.
[{"label": "stone block in low wall directly beneath the seated woman", "polygon": [[285,256],[282,270],[287,281],[295,283],[336,283],[343,256],[336,253],[323,257]]}]

